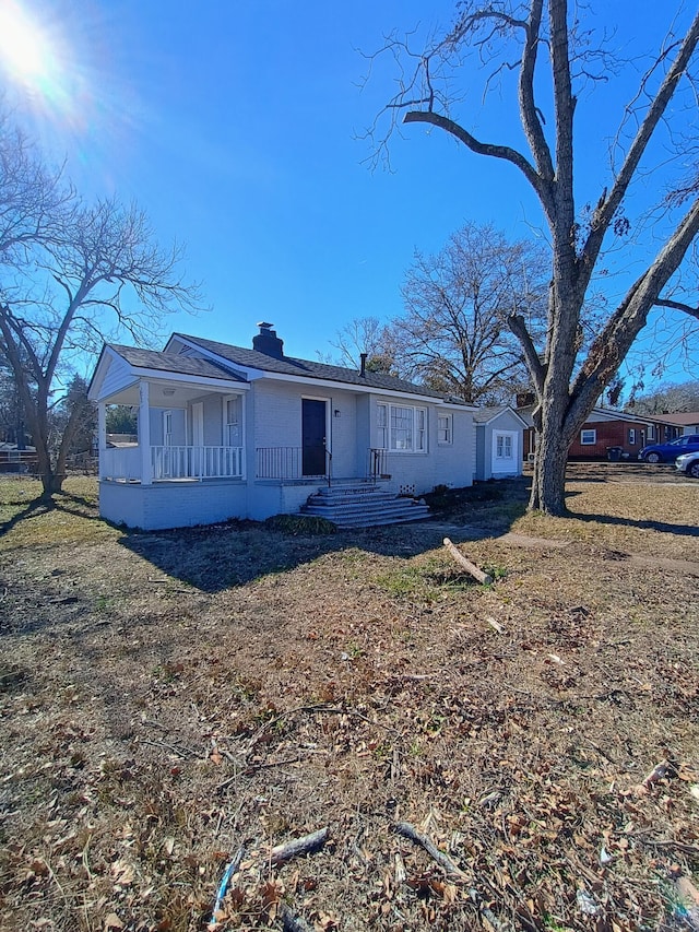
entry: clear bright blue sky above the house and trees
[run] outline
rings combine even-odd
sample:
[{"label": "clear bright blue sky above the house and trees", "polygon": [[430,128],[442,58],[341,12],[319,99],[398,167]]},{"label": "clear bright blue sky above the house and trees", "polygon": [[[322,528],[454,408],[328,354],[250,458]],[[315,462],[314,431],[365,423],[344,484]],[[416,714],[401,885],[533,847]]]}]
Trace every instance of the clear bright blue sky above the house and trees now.
[{"label": "clear bright blue sky above the house and trees", "polygon": [[[392,172],[363,164],[369,145],[356,137],[395,72],[387,61],[360,90],[360,51],[395,27],[449,23],[451,2],[22,5],[52,43],[60,87],[9,83],[20,119],[54,160],[66,157],[82,192],[135,199],[163,244],[187,246],[187,271],[212,309],[177,315],[168,329],[249,345],[256,322],[269,320],[287,353],[313,358],[353,318],[401,311],[415,248],[439,249],[465,221],[538,235],[518,173],[438,132],[406,128],[392,143]],[[618,0],[614,15],[615,48],[633,55],[653,49],[672,21],[648,0]],[[614,81],[581,97],[591,166],[581,178],[591,198],[605,180],[606,141],[627,92]],[[489,103],[478,127],[501,139],[506,90]]]}]

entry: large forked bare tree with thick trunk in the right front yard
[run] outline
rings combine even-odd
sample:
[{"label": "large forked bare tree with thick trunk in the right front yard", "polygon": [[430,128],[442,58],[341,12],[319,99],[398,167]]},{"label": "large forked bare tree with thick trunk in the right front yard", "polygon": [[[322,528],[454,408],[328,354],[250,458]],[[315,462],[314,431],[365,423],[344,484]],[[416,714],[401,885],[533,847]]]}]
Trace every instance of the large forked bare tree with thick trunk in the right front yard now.
[{"label": "large forked bare tree with thick trunk in the right front yard", "polygon": [[[576,8],[576,17],[584,13],[584,8]],[[680,20],[678,14],[675,22]],[[537,352],[526,319],[517,312],[509,318],[537,399],[538,446],[531,508],[565,514],[568,447],[652,308],[666,298],[664,290],[668,283],[672,287],[673,275],[699,231],[695,175],[686,175],[682,160],[684,152],[696,151],[697,106],[689,69],[698,42],[696,15],[684,35],[671,32],[662,43],[637,95],[620,115],[611,168],[605,169],[608,182],[587,211],[576,202],[577,166],[584,158],[584,140],[578,138],[573,116],[581,106],[581,90],[596,78],[614,76],[615,69],[623,66],[609,60],[604,46],[595,49],[589,44],[589,32],[573,20],[567,0],[464,0],[457,4],[453,26],[427,48],[414,54],[396,36],[386,45],[384,50],[398,59],[402,70],[399,92],[384,111],[389,129],[382,137],[375,134],[378,151],[384,150],[401,116],[405,123],[439,129],[470,152],[516,168],[537,198],[545,219],[550,286],[543,353]],[[467,67],[472,54],[477,71]],[[508,83],[512,74],[516,89]],[[516,95],[522,145],[482,139],[469,128],[467,114],[459,119],[454,116],[464,105],[464,87],[478,76],[485,80],[486,93],[500,81],[502,94],[511,90]],[[553,110],[549,119],[544,117],[547,110]],[[677,121],[683,122],[677,126]],[[375,129],[378,133],[378,126]],[[685,133],[682,139],[680,133]],[[582,311],[593,275],[602,266],[603,247],[611,241],[624,245],[631,227],[625,211],[630,211],[632,181],[641,172],[659,166],[666,178],[675,168],[675,184],[671,180],[666,190],[677,196],[673,199],[661,190],[644,268],[633,274],[620,299],[600,321],[596,339],[581,359]],[[675,309],[691,312],[691,304]]]}]

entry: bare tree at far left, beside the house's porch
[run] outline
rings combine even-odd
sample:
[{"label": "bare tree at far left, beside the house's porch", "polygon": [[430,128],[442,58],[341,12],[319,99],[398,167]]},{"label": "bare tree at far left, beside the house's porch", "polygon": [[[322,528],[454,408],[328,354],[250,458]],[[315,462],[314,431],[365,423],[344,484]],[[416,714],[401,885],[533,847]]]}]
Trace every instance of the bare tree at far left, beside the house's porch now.
[{"label": "bare tree at far left, beside the house's porch", "polygon": [[197,288],[178,274],[178,247],[154,243],[142,211],[115,200],[84,205],[0,125],[0,342],[36,447],[44,495],[59,492],[83,414],[75,398],[62,436],[51,412],[70,381],[68,357],[95,352],[112,332],[143,344],[162,316],[193,309]]}]

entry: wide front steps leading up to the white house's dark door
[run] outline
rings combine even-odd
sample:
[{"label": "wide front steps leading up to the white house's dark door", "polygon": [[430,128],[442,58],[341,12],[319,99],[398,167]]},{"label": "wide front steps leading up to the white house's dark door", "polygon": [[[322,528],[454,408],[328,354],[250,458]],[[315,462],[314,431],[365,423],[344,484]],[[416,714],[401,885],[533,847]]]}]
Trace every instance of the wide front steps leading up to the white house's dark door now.
[{"label": "wide front steps leading up to the white house's dark door", "polygon": [[427,505],[413,498],[399,498],[369,483],[322,488],[300,510],[303,515],[327,518],[341,529],[379,528],[429,518]]}]

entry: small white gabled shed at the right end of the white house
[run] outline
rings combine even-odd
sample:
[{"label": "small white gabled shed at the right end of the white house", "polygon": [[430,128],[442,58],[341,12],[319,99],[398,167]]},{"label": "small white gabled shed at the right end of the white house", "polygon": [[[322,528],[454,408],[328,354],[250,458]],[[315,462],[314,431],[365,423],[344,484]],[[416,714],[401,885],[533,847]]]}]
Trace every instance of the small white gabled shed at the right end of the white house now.
[{"label": "small white gabled shed at the right end of the white house", "polygon": [[508,405],[473,412],[476,428],[475,479],[511,479],[522,474],[522,438],[526,423]]}]

